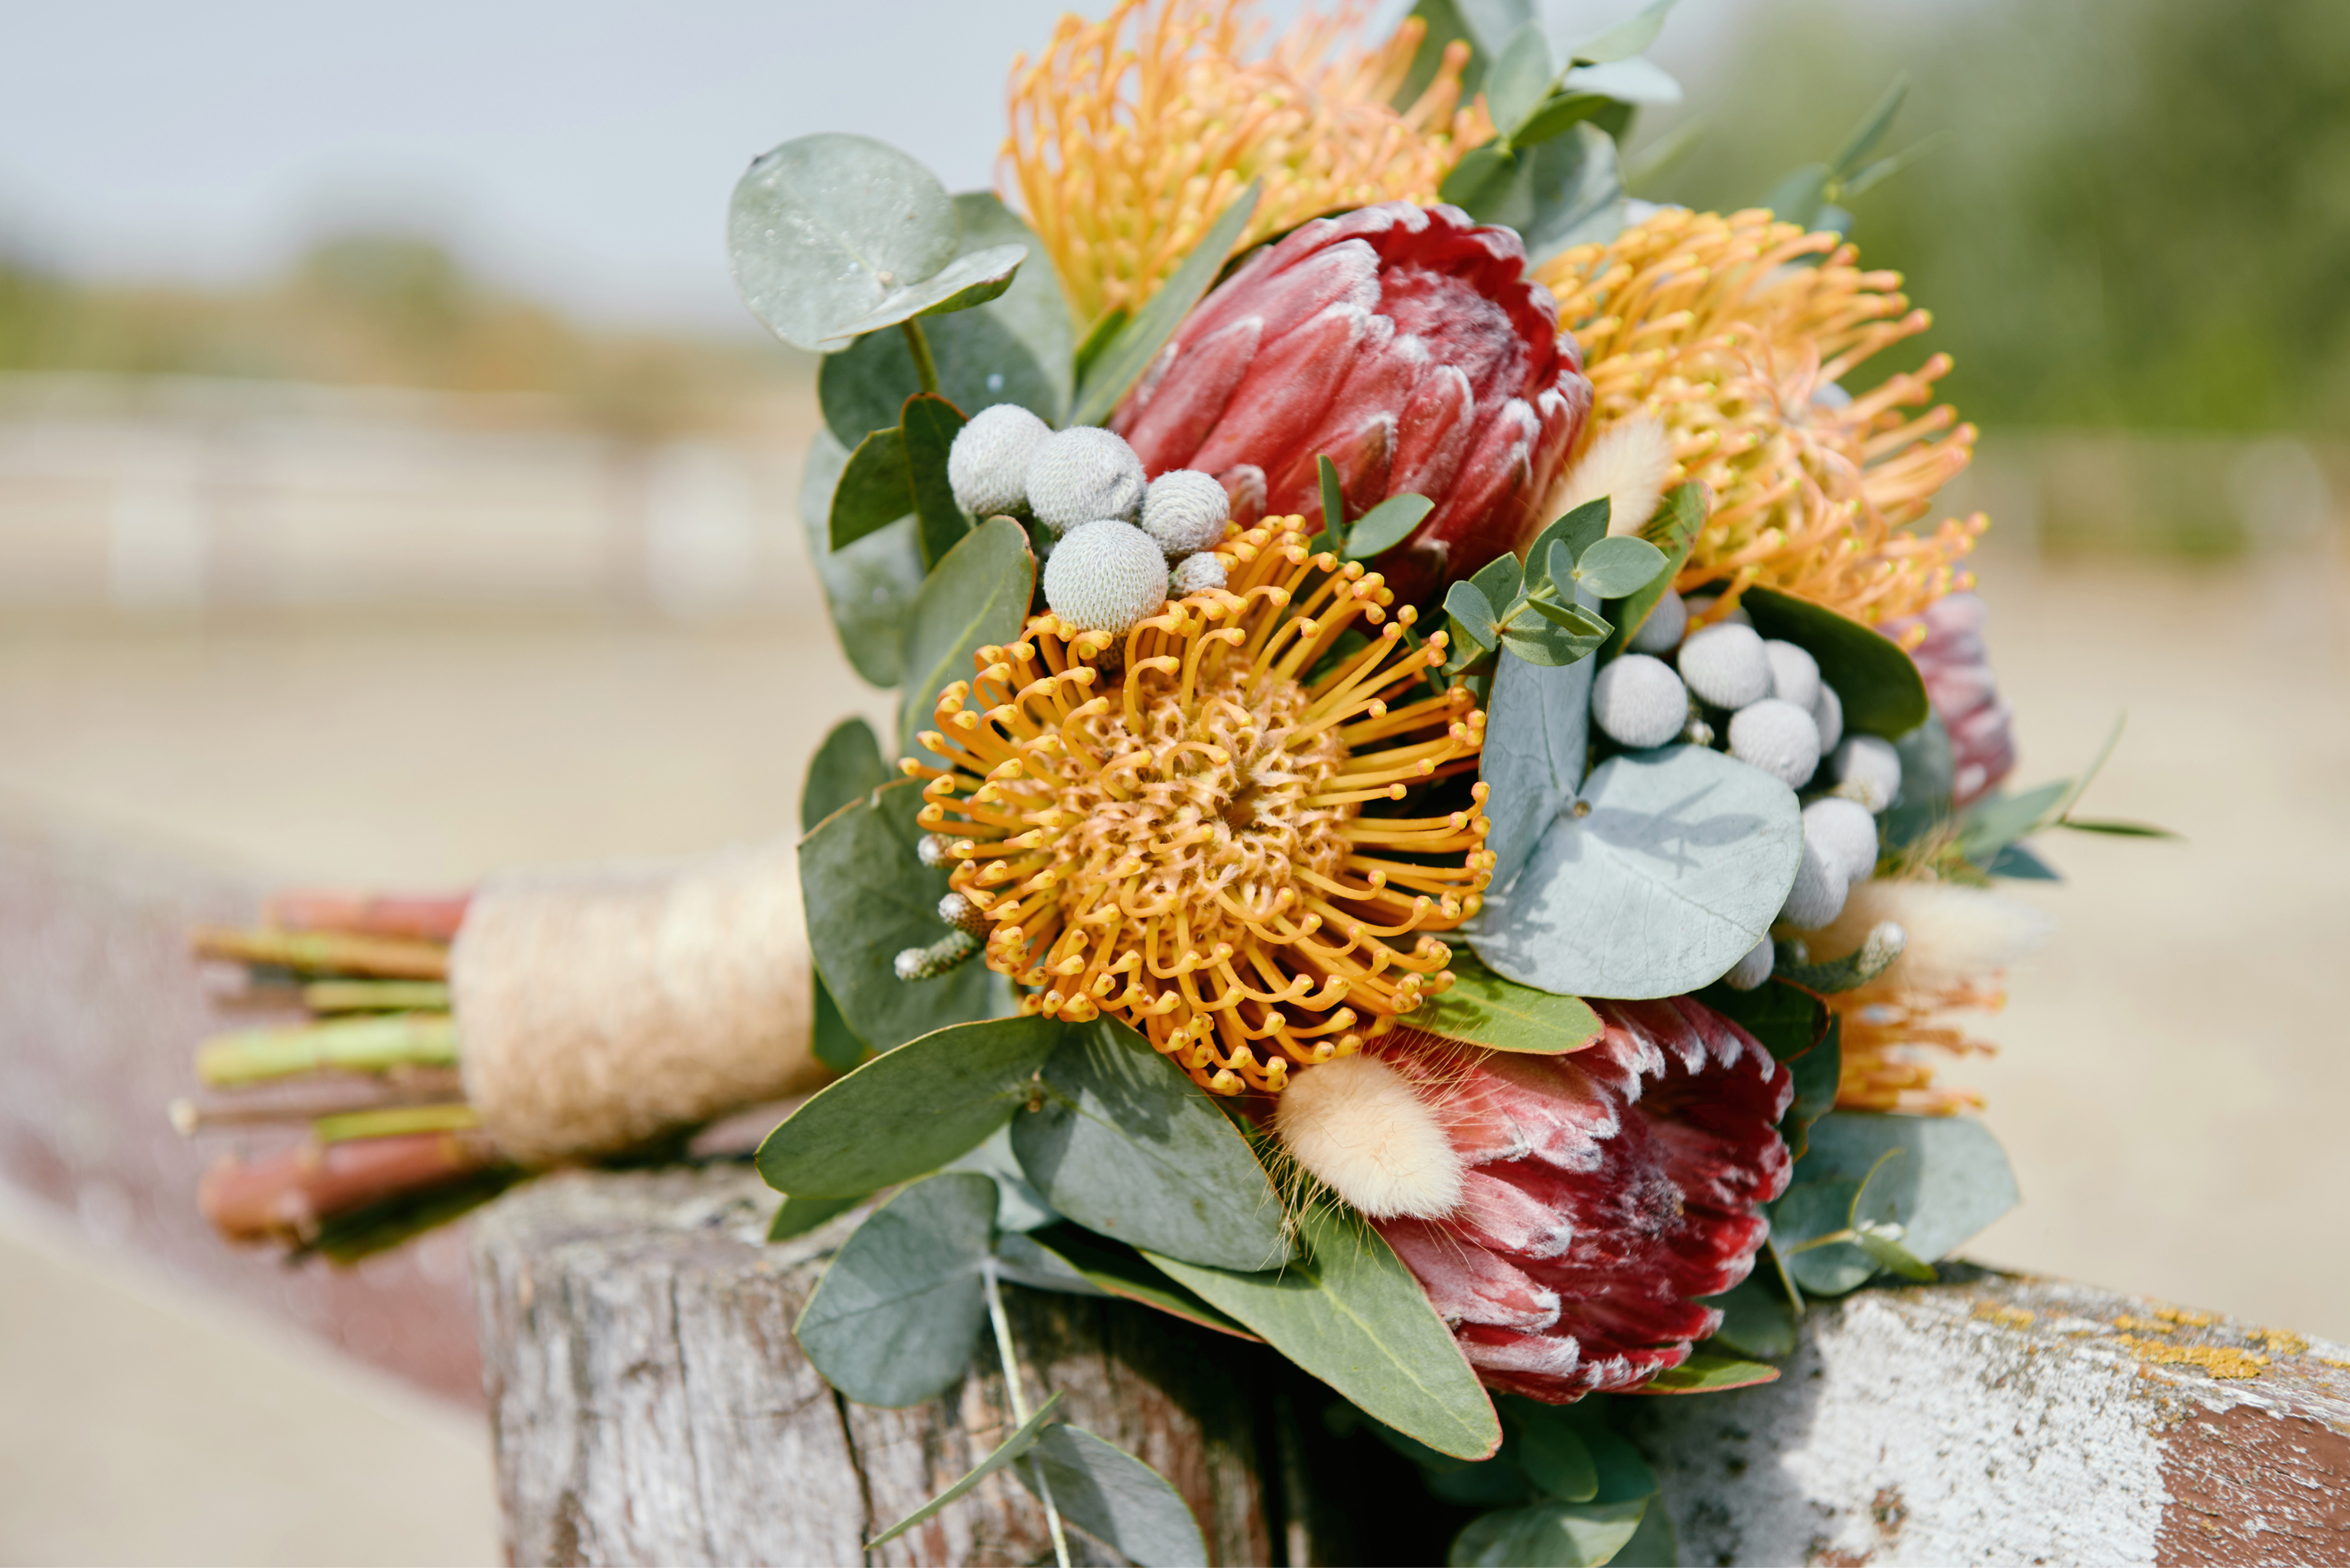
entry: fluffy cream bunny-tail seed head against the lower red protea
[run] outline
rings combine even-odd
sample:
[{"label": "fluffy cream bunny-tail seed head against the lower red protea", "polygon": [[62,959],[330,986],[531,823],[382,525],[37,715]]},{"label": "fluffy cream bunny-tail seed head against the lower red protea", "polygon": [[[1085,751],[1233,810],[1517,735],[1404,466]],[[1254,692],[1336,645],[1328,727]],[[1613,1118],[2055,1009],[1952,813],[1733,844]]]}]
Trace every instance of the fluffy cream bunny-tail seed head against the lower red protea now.
[{"label": "fluffy cream bunny-tail seed head against the lower red protea", "polygon": [[1396,1068],[1340,1056],[1290,1080],[1274,1103],[1281,1145],[1375,1221],[1434,1221],[1462,1202],[1462,1157]]}]

